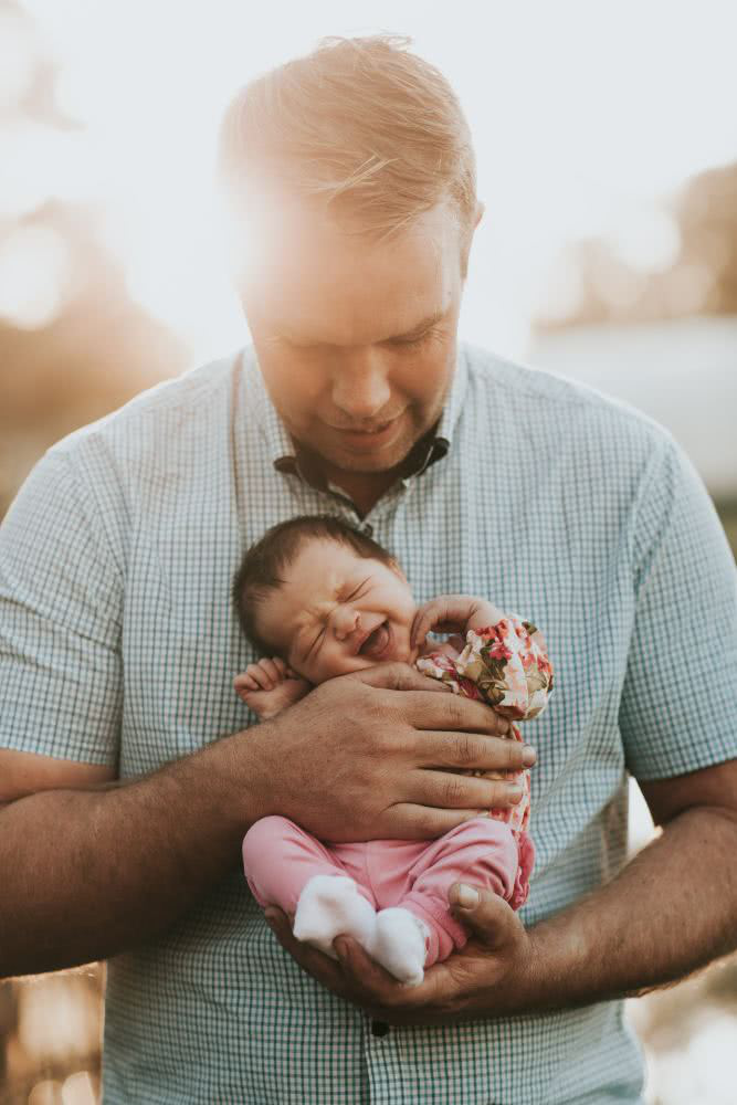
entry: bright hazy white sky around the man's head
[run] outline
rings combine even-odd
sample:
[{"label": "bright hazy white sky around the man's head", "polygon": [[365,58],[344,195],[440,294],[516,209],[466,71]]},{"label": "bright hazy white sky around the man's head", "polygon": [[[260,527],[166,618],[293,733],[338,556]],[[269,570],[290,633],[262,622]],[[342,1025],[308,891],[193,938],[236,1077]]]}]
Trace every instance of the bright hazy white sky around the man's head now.
[{"label": "bright hazy white sky around the man's head", "polygon": [[71,155],[39,154],[17,190],[49,181],[59,194],[102,198],[131,294],[189,343],[192,360],[245,335],[213,244],[220,113],[240,84],[325,34],[409,34],[459,93],[486,202],[462,333],[510,356],[525,351],[561,245],[608,233],[643,266],[663,263],[677,239],[655,198],[737,157],[729,0],[24,7],[62,65],[60,103],[85,130]]}]

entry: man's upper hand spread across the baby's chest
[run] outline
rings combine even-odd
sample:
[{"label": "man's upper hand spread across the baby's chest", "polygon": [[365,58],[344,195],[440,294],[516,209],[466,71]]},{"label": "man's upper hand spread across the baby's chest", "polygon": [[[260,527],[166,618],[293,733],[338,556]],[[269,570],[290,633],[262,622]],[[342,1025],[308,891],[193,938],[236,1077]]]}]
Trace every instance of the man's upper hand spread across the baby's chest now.
[{"label": "man's upper hand spread across the baby's chest", "polygon": [[[520,789],[456,771],[517,771],[535,753],[503,739],[509,723],[483,703],[445,691],[406,664],[328,680],[255,730],[248,747],[246,808],[325,841],[429,840]],[[242,741],[242,744],[241,744]]]}]

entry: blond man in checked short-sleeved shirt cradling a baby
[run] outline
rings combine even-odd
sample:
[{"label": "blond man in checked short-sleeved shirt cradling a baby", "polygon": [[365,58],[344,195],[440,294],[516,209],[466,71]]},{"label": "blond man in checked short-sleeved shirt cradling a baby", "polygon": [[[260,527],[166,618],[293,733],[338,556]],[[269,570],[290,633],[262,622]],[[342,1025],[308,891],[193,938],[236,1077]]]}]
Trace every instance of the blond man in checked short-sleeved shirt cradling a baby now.
[{"label": "blond man in checked short-sleeved shirt cradling a baby", "polygon": [[[112,957],[107,1103],[639,1102],[619,999],[737,943],[724,535],[647,419],[456,344],[473,152],[404,45],[330,41],[236,97],[254,349],[62,442],[1,532],[0,971]],[[270,932],[240,838],[271,812],[435,836],[512,801],[439,768],[522,751],[401,665],[241,732],[231,573],[316,511],[373,533],[419,601],[533,618],[556,664],[529,903],[454,887],[474,939],[414,990],[346,938],[335,961]],[[663,831],[622,866],[628,771]]]}]

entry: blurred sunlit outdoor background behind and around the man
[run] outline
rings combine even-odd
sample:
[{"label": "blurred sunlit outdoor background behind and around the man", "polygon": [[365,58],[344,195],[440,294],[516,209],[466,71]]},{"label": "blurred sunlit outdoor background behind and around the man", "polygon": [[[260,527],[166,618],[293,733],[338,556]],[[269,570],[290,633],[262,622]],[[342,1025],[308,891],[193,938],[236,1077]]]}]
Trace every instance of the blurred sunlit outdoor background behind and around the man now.
[{"label": "blurred sunlit outdoor background behind and around the man", "polygon": [[[370,20],[370,22],[367,22]],[[41,453],[249,340],[220,113],[326,34],[391,31],[475,137],[461,334],[665,424],[737,549],[737,10],[651,0],[0,0],[0,516]],[[632,789],[631,848],[652,834]],[[93,1105],[104,968],[0,982],[0,1103]],[[628,1003],[650,1105],[734,1105],[737,961]]]}]

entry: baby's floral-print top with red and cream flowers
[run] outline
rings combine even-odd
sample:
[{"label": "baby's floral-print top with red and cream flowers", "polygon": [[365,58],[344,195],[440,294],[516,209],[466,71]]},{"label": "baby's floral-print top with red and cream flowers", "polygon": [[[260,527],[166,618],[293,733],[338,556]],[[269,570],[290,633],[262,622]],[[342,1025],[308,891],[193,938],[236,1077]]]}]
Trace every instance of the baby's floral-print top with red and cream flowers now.
[{"label": "baby's floral-print top with red and cream flowers", "polygon": [[[470,629],[465,648],[456,659],[431,652],[418,660],[417,666],[424,675],[442,680],[454,694],[486,702],[513,722],[537,717],[552,691],[552,667],[543,635],[531,622],[515,614],[507,614],[485,629]],[[507,738],[523,739],[516,725],[512,725]],[[470,774],[484,779],[505,779],[522,787],[523,797],[517,806],[489,810],[489,817],[505,821],[517,836],[522,860],[528,843],[520,835],[529,824],[529,771]]]}]

